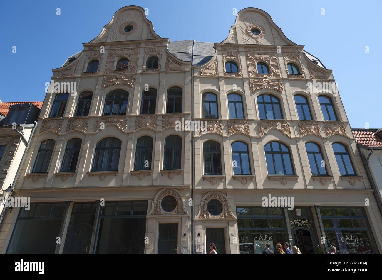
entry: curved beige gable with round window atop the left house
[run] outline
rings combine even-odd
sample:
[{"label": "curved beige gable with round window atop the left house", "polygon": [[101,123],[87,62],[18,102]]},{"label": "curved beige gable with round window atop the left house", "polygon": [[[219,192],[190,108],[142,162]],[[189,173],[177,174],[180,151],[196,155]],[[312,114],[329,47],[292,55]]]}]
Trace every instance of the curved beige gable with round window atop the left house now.
[{"label": "curved beige gable with round window atop the left house", "polygon": [[[134,28],[130,32],[125,32],[123,29],[128,25]],[[126,6],[115,12],[102,32],[89,43],[148,39],[161,39],[161,37],[155,33],[152,22],[146,18],[145,11],[141,7]]]}]

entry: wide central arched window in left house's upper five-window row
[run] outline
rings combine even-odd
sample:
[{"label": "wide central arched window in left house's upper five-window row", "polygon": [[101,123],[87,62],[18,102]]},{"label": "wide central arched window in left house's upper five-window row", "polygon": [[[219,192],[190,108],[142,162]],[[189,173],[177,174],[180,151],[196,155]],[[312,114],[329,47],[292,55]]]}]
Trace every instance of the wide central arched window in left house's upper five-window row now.
[{"label": "wide central arched window in left house's upper five-window row", "polygon": [[114,90],[107,94],[104,116],[126,115],[128,97],[128,92],[124,90]]}]

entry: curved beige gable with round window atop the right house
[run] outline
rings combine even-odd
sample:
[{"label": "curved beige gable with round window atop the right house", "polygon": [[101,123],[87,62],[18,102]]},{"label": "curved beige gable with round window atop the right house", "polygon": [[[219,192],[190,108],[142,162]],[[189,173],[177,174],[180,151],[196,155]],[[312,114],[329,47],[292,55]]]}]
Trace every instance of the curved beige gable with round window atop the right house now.
[{"label": "curved beige gable with round window atop the right house", "polygon": [[[261,33],[252,34],[252,28],[258,29]],[[285,37],[269,14],[256,8],[239,11],[235,24],[230,28],[230,34],[222,43],[297,46]]]}]

